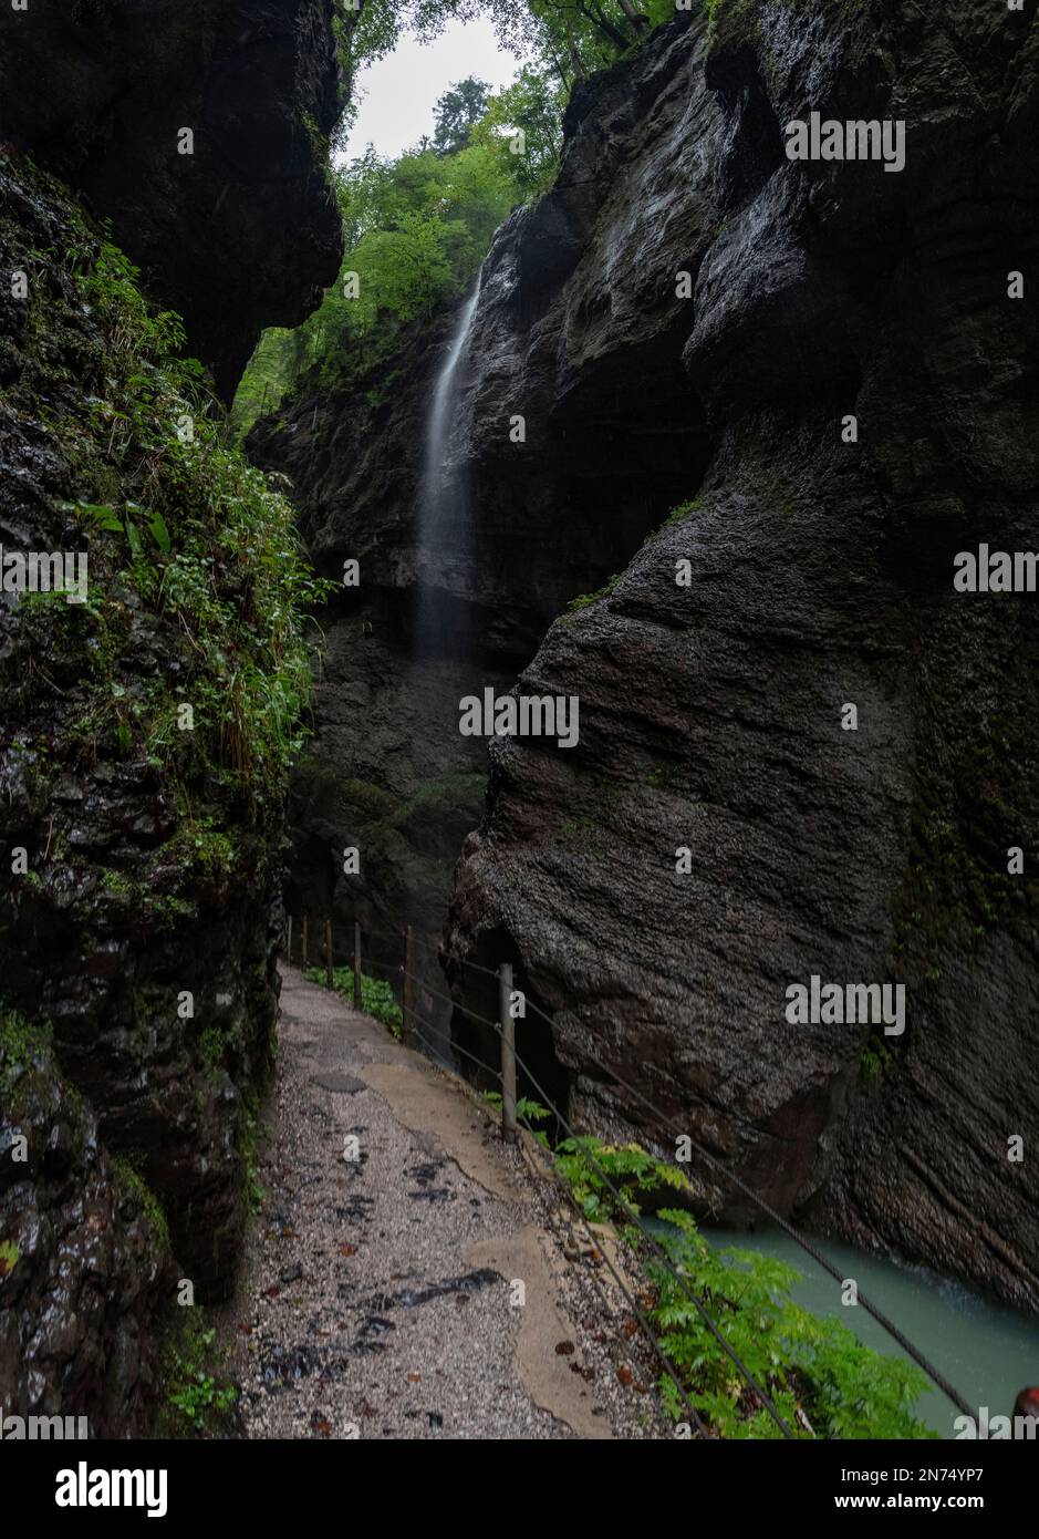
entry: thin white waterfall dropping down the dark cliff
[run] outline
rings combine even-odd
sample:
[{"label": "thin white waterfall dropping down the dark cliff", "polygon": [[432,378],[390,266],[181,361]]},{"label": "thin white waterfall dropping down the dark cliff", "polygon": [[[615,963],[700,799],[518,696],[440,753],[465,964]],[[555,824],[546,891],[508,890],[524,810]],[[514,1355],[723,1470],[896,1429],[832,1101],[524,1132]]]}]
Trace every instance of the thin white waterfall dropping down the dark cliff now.
[{"label": "thin white waterfall dropping down the dark cliff", "polygon": [[467,591],[472,559],[472,528],[464,451],[450,463],[458,406],[458,365],[466,352],[476,314],[480,283],[461,308],[429,408],[426,454],[418,503],[418,614],[415,656],[433,651],[467,653],[469,626],[464,605],[452,603]]}]

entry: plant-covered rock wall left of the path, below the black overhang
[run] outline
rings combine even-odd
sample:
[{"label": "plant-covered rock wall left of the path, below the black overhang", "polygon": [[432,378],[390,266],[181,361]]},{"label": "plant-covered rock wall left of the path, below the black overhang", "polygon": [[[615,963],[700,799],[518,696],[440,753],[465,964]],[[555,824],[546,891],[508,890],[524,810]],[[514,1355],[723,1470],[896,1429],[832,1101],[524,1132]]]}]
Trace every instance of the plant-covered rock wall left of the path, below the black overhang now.
[{"label": "plant-covered rock wall left of the path, below the black overhang", "polygon": [[[25,297],[0,289],[0,543],[89,563],[81,603],[0,606],[5,999],[52,1022],[54,1053],[32,1071],[37,1140],[65,1082],[88,1103],[91,1157],[71,1160],[54,1200],[95,1183],[114,1279],[123,1214],[151,1213],[158,1231],[161,1205],[180,1276],[221,1297],[246,1211],[246,1102],[272,1053],[314,588],[290,506],[229,448],[201,365],[180,357],[178,319],[149,306],[128,259],[29,162],[0,159],[0,269],[28,279]],[[112,1167],[98,1136],[129,1163]],[[48,1233],[12,1276],[48,1276]],[[151,1307],[157,1284],[155,1271],[134,1297]],[[51,1300],[55,1320],[78,1287]],[[9,1408],[41,1404],[45,1291],[18,1296],[17,1327],[0,1293],[0,1339],[17,1345],[0,1360]],[[85,1325],[69,1357],[91,1404],[108,1394],[108,1328]]]}]

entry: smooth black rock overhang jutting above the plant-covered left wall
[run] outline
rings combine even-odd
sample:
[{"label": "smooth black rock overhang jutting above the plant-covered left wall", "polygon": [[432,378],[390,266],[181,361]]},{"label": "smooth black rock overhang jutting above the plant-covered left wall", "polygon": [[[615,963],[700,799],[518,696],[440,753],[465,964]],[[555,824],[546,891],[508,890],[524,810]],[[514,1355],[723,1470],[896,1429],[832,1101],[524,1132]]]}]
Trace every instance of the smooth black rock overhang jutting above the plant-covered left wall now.
[{"label": "smooth black rock overhang jutting above the plant-covered left wall", "polygon": [[304,320],[338,271],[320,145],[338,111],[330,15],[330,0],[0,11],[0,142],[112,220],[224,399],[261,328]]}]

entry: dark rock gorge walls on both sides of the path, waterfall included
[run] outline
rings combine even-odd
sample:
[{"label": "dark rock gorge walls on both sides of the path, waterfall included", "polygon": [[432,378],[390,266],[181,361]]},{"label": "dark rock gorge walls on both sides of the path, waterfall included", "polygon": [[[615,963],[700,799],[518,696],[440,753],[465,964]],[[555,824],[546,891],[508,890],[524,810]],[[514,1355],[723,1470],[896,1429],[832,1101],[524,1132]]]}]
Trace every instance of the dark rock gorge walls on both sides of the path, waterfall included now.
[{"label": "dark rock gorge walls on both sides of the path, waterfall included", "polygon": [[[240,451],[257,342],[350,303],[383,12],[0,11],[0,546],[89,549],[0,594],[9,1413],[151,1430],[178,1290],[234,1293],[286,914],[378,976],[410,926],[481,1090],[509,963],[575,1127],[712,1156],[698,1219],[1039,1311],[1039,633],[953,580],[1034,546],[1036,0],[667,12]],[[902,163],[788,154],[827,120]]]}]

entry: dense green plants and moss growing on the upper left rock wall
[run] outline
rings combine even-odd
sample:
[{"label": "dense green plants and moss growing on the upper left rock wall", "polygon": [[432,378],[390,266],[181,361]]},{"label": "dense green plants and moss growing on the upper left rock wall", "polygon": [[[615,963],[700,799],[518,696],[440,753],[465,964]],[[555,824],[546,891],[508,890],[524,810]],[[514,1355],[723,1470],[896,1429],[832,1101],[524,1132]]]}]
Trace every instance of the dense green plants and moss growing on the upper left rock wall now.
[{"label": "dense green plants and moss growing on the upper left rock wall", "polygon": [[[63,195],[26,174],[51,200]],[[48,382],[31,414],[49,409],[69,462],[77,494],[65,511],[89,546],[91,593],[86,605],[48,605],[35,617],[26,608],[22,619],[58,625],[83,654],[81,754],[144,756],[181,780],[204,777],[212,799],[244,800],[264,820],[280,813],[310,699],[304,611],[330,585],[303,563],[290,505],[231,445],[201,365],[180,356],[180,317],[149,306],[126,255],[71,205],[63,214],[61,266],[52,251],[23,259],[63,286],[31,289],[34,362]],[[65,314],[75,309],[105,337],[103,354],[83,356],[81,331],[66,346]],[[80,388],[55,389],[60,380]],[[132,666],[141,613],[177,665],[151,680]]]}]

